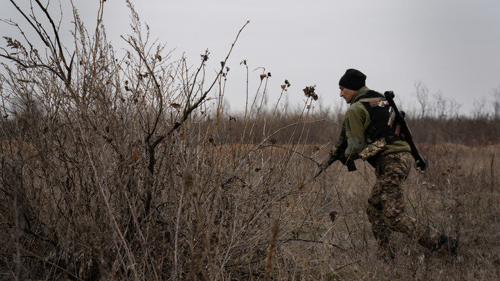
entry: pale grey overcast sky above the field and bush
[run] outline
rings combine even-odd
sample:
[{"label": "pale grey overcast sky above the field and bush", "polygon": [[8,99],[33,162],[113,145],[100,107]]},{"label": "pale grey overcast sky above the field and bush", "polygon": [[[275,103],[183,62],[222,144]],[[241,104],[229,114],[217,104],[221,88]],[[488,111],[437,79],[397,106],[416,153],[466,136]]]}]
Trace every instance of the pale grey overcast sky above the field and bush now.
[{"label": "pale grey overcast sky above the field and bush", "polygon": [[[19,19],[10,1],[1,0],[0,18]],[[61,0],[66,3],[65,0]],[[27,3],[28,0],[16,1]],[[55,3],[55,1],[53,1]],[[89,30],[97,0],[74,0]],[[367,86],[393,90],[410,107],[416,80],[431,94],[442,92],[468,114],[474,101],[491,100],[500,86],[500,1],[498,0],[349,0],[349,1],[133,1],[151,35],[183,52],[192,65],[210,50],[209,67],[218,69],[241,26],[250,20],[228,61],[226,87],[231,110],[244,108],[245,69],[251,68],[250,92],[258,86],[257,67],[272,73],[268,90],[276,99],[288,79],[291,104],[301,89],[317,85],[322,105],[340,101],[338,80],[348,68],[367,75]],[[109,39],[130,31],[122,0],[105,3]],[[68,14],[69,16],[69,14]],[[67,25],[67,30],[70,26]],[[64,30],[65,28],[63,28]],[[10,32],[3,24],[5,33]]]}]

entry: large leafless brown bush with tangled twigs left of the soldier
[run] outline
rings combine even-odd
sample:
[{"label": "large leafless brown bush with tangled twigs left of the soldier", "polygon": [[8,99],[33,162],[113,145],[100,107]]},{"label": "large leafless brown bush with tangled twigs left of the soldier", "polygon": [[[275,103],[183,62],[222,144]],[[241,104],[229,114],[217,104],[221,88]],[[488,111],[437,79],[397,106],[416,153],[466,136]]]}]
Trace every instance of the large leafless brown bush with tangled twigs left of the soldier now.
[{"label": "large leafless brown bush with tangled twigs left of the soldier", "polygon": [[[173,60],[130,2],[124,58],[106,40],[102,1],[92,36],[73,10],[72,45],[60,40],[47,3],[35,0],[31,15],[11,3],[43,44],[37,49],[8,21],[23,40],[6,37],[0,54],[5,269],[17,278],[263,274],[270,222],[280,219],[290,232],[290,203],[308,198],[294,192],[299,173],[287,171],[307,149],[297,144],[312,100],[288,124],[284,153],[269,146],[281,131],[268,125],[276,107],[256,142],[225,142],[226,62],[236,40],[208,81],[208,51],[194,70],[185,58]],[[261,76],[260,101],[235,139],[257,135],[270,76]],[[219,104],[210,108],[216,87]]]}]

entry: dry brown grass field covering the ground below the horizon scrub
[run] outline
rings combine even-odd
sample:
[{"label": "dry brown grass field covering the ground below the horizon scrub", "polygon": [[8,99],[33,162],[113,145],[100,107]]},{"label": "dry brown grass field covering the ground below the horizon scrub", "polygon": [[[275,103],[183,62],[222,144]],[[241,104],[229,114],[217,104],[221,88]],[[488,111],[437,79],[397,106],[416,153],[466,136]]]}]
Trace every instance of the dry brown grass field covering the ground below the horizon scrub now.
[{"label": "dry brown grass field covering the ground below the horizon scrub", "polygon": [[[268,272],[274,279],[497,279],[498,146],[420,146],[431,167],[410,174],[406,208],[460,238],[456,259],[401,234],[393,239],[396,259],[378,259],[365,214],[372,167],[358,161],[358,171],[349,173],[335,163],[307,182],[317,167],[303,155],[324,156],[314,146],[290,147],[295,153],[186,142],[182,157],[165,153],[169,160],[155,176],[147,216],[141,194],[147,175],[137,173],[142,157],[134,163],[130,155],[128,175],[119,176],[120,163],[109,161],[113,153],[106,142],[99,156],[91,153],[95,173],[77,149],[47,152],[44,157],[53,157],[48,162],[40,151],[19,156],[4,150],[2,277],[12,278],[19,262],[24,277],[133,279],[123,265],[129,255],[138,278],[260,279],[277,223]],[[235,171],[238,153],[250,157]],[[15,165],[19,157],[26,157],[22,167]],[[12,194],[16,183],[22,189]]]}]

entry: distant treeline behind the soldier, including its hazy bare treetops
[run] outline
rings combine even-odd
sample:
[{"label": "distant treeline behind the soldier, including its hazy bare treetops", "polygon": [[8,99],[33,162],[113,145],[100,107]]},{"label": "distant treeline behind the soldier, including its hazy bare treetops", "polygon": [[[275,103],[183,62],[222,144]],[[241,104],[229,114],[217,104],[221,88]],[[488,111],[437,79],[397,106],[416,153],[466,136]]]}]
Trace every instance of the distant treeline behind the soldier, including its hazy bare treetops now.
[{"label": "distant treeline behind the soldier, including its hazy bare treetops", "polygon": [[[408,113],[406,121],[416,142],[449,142],[467,146],[500,143],[500,87],[493,90],[492,99],[475,101],[473,114],[469,115],[460,114],[460,103],[444,96],[442,92],[429,94],[422,81],[415,82],[415,92],[412,94],[417,103],[399,102],[401,108]],[[266,142],[280,144],[298,143],[300,139],[301,143],[306,144],[335,144],[347,106],[341,100],[329,109],[319,105],[319,109],[313,110],[314,105],[311,103],[294,110],[283,108],[281,114],[276,110],[274,113],[272,110],[261,110],[259,114],[254,112],[249,120],[248,117],[244,118],[244,114],[222,117],[224,129],[217,135],[217,139],[219,142],[235,142],[238,138],[240,141],[262,142],[268,138]],[[312,113],[306,114],[307,112]],[[263,130],[264,127],[267,130]],[[274,132],[277,133],[269,136]]]}]

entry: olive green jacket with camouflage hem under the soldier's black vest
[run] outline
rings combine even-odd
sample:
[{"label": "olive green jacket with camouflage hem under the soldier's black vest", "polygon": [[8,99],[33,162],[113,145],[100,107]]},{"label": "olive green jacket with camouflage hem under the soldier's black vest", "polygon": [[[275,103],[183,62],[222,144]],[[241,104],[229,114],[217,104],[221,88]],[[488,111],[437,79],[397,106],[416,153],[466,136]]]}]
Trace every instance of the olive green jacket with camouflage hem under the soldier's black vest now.
[{"label": "olive green jacket with camouflage hem under the soldier's black vest", "polygon": [[[364,96],[369,92],[368,87],[362,87],[351,100],[351,105],[347,109],[344,115],[344,123],[342,124],[345,129],[345,136],[347,137],[347,148],[345,150],[345,156],[350,159],[357,159],[359,153],[367,147],[368,144],[375,142],[376,139],[367,139],[365,132],[370,124],[370,117],[368,110],[359,100],[360,96]],[[356,101],[353,103],[353,101]],[[344,142],[344,138],[341,136],[339,142],[335,145],[338,148]],[[404,141],[396,141],[392,144],[387,144],[385,149],[380,155],[385,155],[387,153],[394,152],[410,152],[410,145]]]}]

